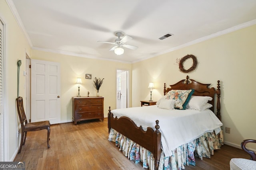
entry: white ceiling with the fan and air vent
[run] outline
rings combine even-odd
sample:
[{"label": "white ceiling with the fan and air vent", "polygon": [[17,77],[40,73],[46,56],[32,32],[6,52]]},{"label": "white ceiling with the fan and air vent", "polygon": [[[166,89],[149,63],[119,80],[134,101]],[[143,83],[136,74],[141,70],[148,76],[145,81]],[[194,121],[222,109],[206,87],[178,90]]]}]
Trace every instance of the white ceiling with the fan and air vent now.
[{"label": "white ceiling with the fan and air vent", "polygon": [[[136,62],[256,19],[256,0],[7,0],[34,49]],[[16,13],[18,12],[18,13]],[[22,25],[21,24],[21,25]],[[115,31],[133,37],[109,51]],[[158,38],[173,34],[164,40]],[[183,56],[180,56],[183,57]]]}]

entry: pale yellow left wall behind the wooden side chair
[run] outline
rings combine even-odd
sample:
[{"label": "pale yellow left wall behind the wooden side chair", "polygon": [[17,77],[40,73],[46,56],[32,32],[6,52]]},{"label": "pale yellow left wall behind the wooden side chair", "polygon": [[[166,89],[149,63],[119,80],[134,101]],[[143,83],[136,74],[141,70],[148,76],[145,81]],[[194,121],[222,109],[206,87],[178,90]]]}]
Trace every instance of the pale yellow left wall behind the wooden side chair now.
[{"label": "pale yellow left wall behind the wooden side chair", "polygon": [[[7,125],[5,131],[8,135],[5,136],[8,141],[8,154],[5,158],[6,161],[12,161],[16,156],[18,150],[18,138],[17,131],[20,129],[18,113],[16,112],[16,98],[18,89],[18,78],[17,78],[17,61],[22,60],[20,67],[20,96],[26,96],[26,77],[22,76],[22,72],[26,70],[26,53],[30,55],[30,46],[27,39],[24,37],[20,27],[18,26],[12,12],[10,11],[6,1],[0,0],[0,19],[5,25],[5,89],[6,95],[4,96],[4,116],[7,121],[4,123]],[[1,114],[2,116],[2,114]],[[20,138],[20,137],[19,137]],[[7,152],[7,151],[6,151]]]}]

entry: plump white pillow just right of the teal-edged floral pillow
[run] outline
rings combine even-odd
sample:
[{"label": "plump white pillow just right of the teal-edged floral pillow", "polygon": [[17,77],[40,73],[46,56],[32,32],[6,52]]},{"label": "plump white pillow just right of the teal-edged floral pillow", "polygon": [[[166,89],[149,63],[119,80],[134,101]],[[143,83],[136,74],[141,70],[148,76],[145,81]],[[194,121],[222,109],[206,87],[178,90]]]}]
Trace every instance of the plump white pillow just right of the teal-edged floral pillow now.
[{"label": "plump white pillow just right of the teal-edged floral pillow", "polygon": [[212,98],[210,96],[191,96],[186,109],[193,109],[198,111],[205,110],[205,107],[209,107],[209,105],[205,106],[206,103],[211,100]]}]

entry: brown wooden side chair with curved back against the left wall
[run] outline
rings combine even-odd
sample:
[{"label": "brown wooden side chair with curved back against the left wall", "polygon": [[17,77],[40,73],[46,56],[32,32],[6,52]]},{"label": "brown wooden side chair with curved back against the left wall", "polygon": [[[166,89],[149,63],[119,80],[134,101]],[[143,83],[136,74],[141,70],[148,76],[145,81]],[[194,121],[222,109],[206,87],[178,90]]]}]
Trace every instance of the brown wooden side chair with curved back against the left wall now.
[{"label": "brown wooden side chair with curved back against the left wall", "polygon": [[16,99],[17,102],[17,109],[18,114],[20,117],[20,124],[21,124],[21,140],[20,140],[20,149],[21,151],[22,145],[25,144],[27,132],[28,131],[40,131],[42,129],[47,129],[47,147],[50,148],[49,140],[50,140],[50,121],[40,121],[40,122],[34,122],[34,123],[28,123],[26,114],[23,107],[23,99],[22,97],[18,97]]}]

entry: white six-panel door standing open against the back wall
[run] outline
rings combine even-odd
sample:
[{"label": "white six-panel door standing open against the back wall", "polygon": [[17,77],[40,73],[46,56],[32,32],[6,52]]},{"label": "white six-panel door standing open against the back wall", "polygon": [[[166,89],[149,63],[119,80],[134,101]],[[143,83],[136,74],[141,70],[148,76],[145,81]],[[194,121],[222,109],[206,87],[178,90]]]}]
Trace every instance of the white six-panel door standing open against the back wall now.
[{"label": "white six-panel door standing open against the back wall", "polygon": [[31,122],[60,123],[60,63],[31,60]]}]

